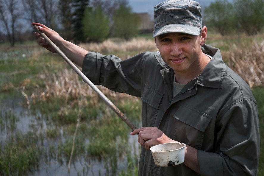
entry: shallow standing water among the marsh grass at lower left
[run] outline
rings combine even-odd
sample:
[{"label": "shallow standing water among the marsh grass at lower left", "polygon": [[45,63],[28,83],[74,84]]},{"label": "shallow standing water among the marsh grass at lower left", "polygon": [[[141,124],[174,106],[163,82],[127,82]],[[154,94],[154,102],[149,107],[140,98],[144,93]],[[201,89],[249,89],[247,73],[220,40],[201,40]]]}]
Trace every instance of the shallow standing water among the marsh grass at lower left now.
[{"label": "shallow standing water among the marsh grass at lower left", "polygon": [[[37,133],[41,131],[45,131],[47,128],[45,120],[41,118],[41,114],[38,112],[38,110],[34,110],[32,113],[32,110],[28,108],[28,106],[25,106],[25,99],[23,96],[15,95],[15,96],[1,96],[5,97],[4,99],[0,100],[0,110],[1,110],[1,118],[4,119],[7,114],[13,114],[12,116],[15,116],[15,122],[11,119],[2,120],[0,130],[1,130],[1,136],[0,136],[0,142],[1,146],[3,146],[8,140],[10,134],[14,134],[16,132],[25,134],[28,131],[34,131],[37,130]],[[4,122],[4,123],[3,123]],[[15,127],[10,127],[11,123],[14,122]],[[11,129],[12,128],[12,129]],[[63,128],[63,127],[62,127]],[[61,135],[63,133],[63,129],[60,131]],[[129,134],[128,134],[129,135]],[[63,135],[62,135],[63,136]],[[61,140],[61,139],[60,139]],[[84,139],[86,142],[89,141],[89,139]],[[49,141],[49,139],[44,139],[43,141],[43,147],[47,147],[50,145],[50,143],[53,143],[56,145],[56,139]],[[135,152],[139,153],[139,144],[137,143],[137,136],[131,136],[129,135],[129,145],[135,146],[131,147],[132,155],[135,154]],[[137,151],[134,151],[134,150]],[[65,161],[65,159],[62,159],[58,161],[55,159],[41,159],[38,164],[38,169],[36,169],[34,172],[32,172],[30,175],[32,176],[63,176],[63,175],[69,175],[69,176],[78,176],[78,175],[115,175],[109,173],[109,161],[101,160],[97,158],[86,158],[86,157],[78,157],[77,160],[71,163],[71,168],[68,170],[68,161]],[[123,156],[118,161],[118,169],[126,168],[127,167],[127,161],[126,156]]]}]

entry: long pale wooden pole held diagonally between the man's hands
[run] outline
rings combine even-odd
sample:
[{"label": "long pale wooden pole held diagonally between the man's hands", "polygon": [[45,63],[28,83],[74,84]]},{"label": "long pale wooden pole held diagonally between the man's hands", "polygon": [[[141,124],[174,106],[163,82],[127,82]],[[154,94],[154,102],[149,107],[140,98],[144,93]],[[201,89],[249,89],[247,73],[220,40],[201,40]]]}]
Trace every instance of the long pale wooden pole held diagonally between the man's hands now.
[{"label": "long pale wooden pole held diagonally between the man's hands", "polygon": [[34,29],[40,33],[40,35],[49,43],[49,45],[55,49],[55,51],[71,66],[74,71],[79,74],[79,76],[98,94],[101,99],[106,102],[108,106],[110,106],[111,109],[115,111],[115,113],[124,121],[126,124],[134,131],[137,129],[132,122],[129,121],[129,119],[126,118],[126,116],[77,68],[77,66],[71,62],[71,60],[49,39],[49,37],[41,32],[38,29],[38,26],[34,26]]}]

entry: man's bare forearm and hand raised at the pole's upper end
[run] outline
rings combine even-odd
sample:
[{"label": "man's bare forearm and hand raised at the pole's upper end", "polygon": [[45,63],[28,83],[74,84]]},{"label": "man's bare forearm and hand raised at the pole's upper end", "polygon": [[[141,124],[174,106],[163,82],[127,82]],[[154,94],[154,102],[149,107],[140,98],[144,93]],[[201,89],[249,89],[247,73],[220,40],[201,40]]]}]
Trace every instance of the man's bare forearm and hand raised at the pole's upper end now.
[{"label": "man's bare forearm and hand raised at the pole's upper end", "polygon": [[[40,23],[32,23],[32,26],[38,26],[41,32],[44,32],[49,39],[75,64],[82,67],[83,58],[88,53],[87,50],[64,40],[56,31],[46,27]],[[35,36],[38,37],[37,41],[40,46],[46,48],[50,52],[56,53],[56,51],[42,38],[40,33],[35,32]]]}]

